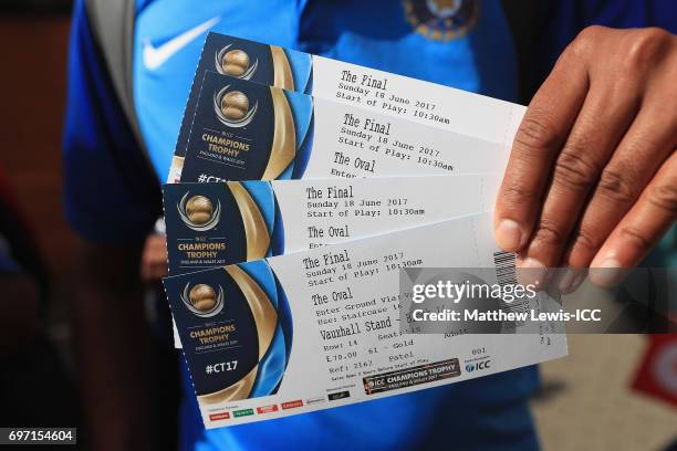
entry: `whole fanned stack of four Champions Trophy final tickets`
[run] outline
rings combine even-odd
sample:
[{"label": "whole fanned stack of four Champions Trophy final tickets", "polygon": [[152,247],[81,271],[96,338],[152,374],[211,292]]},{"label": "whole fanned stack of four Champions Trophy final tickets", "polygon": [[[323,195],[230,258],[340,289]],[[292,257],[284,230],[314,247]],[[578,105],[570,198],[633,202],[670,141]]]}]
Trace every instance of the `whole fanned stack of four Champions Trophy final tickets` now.
[{"label": "whole fanned stack of four Champions Trophy final tickets", "polygon": [[[497,248],[491,209],[523,113],[210,33],[164,186],[165,290],[205,426],[566,355],[565,335],[546,323],[509,335],[462,324],[421,333],[402,289],[431,268],[514,282],[515,256]],[[539,296],[548,294],[512,310]]]}]

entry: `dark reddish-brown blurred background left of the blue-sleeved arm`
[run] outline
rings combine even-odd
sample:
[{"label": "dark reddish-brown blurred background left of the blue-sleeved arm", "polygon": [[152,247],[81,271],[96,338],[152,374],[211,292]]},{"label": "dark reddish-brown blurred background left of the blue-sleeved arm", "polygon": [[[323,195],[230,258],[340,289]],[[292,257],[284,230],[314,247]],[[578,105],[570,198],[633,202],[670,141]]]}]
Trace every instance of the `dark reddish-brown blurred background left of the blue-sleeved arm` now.
[{"label": "dark reddish-brown blurred background left of the blue-sleeved arm", "polygon": [[0,245],[27,259],[19,286],[0,277],[22,303],[1,305],[3,426],[79,421],[65,307],[75,238],[61,200],[69,12],[69,1],[0,2]]}]

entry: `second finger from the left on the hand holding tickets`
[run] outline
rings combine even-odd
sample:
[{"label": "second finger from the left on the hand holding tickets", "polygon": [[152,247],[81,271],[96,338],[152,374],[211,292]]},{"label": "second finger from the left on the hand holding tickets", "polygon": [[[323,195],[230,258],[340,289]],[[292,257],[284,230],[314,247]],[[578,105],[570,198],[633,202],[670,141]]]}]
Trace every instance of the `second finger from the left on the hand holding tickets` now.
[{"label": "second finger from the left on the hand holding tickets", "polygon": [[636,115],[638,96],[632,88],[595,86],[554,161],[552,181],[531,241],[523,252],[530,268],[556,266],[569,244],[590,191]]}]

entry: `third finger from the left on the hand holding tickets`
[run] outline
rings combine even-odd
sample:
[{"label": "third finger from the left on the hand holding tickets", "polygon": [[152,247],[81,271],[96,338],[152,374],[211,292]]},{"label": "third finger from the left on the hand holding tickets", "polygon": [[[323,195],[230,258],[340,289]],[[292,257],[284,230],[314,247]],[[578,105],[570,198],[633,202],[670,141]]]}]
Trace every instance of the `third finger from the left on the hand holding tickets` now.
[{"label": "third finger from the left on the hand holding tickets", "polygon": [[574,233],[565,262],[587,266],[616,224],[632,208],[656,170],[674,150],[677,118],[644,108],[601,174]]}]

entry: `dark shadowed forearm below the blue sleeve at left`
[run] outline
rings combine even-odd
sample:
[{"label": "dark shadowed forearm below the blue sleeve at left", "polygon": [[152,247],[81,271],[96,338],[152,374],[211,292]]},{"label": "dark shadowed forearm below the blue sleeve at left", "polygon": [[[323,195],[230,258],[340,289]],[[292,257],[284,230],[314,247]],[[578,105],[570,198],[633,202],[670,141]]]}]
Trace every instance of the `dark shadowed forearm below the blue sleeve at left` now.
[{"label": "dark shadowed forearm below the blue sleeve at left", "polygon": [[153,449],[153,365],[138,251],[80,243],[73,346],[96,450]]}]

